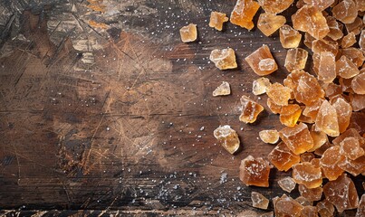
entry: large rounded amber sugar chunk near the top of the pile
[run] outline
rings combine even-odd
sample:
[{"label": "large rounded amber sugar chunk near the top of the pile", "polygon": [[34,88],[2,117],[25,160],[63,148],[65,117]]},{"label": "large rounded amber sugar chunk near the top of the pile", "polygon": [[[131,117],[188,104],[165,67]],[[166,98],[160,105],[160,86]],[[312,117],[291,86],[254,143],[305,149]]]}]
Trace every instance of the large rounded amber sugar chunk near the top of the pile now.
[{"label": "large rounded amber sugar chunk near the top of the pile", "polygon": [[292,15],[293,28],[310,33],[316,39],[324,38],[330,32],[326,18],[313,5],[304,5]]}]

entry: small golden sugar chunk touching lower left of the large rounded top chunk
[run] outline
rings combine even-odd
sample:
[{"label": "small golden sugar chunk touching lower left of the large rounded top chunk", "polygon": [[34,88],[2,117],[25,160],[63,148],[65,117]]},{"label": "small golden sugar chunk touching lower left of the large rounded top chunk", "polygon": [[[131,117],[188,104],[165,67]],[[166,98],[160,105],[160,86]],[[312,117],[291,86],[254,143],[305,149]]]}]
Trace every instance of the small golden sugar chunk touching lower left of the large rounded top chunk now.
[{"label": "small golden sugar chunk touching lower left of the large rounded top chunk", "polygon": [[302,40],[302,34],[287,24],[280,27],[279,35],[283,48],[297,48]]}]

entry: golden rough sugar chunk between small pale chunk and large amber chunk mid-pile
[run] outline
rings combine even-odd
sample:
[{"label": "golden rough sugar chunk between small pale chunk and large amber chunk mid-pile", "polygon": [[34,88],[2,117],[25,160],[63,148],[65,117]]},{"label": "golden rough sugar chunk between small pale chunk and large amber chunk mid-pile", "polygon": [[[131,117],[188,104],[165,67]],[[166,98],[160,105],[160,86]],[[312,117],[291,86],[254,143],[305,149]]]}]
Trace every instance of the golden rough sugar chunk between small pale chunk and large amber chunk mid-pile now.
[{"label": "golden rough sugar chunk between small pale chunk and large amber chunk mid-pile", "polygon": [[280,83],[274,83],[266,88],[266,94],[274,103],[279,106],[287,106],[288,100],[291,98],[290,88],[284,87]]}]

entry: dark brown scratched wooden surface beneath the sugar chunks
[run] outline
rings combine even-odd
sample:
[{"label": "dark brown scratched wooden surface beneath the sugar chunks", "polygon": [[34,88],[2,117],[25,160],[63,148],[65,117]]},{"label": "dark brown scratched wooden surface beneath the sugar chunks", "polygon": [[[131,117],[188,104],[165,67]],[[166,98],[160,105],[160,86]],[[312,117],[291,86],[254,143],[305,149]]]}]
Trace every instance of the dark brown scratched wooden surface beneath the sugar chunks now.
[{"label": "dark brown scratched wooden surface beneath the sugar chunks", "polygon": [[[269,188],[238,179],[245,156],[274,147],[258,132],[281,128],[266,97],[251,93],[258,77],[243,59],[268,44],[279,64],[268,78],[282,81],[278,34],[209,28],[210,12],[230,14],[234,0],[105,0],[103,13],[90,2],[0,3],[0,214],[263,213],[251,191],[281,195],[276,181],[291,173],[273,170]],[[178,29],[189,23],[198,42],[182,43]],[[208,56],[227,46],[239,67],[219,71]],[[232,95],[213,98],[223,80]],[[238,121],[243,94],[266,109],[255,124]],[[235,156],[212,135],[225,124],[242,140]]]}]

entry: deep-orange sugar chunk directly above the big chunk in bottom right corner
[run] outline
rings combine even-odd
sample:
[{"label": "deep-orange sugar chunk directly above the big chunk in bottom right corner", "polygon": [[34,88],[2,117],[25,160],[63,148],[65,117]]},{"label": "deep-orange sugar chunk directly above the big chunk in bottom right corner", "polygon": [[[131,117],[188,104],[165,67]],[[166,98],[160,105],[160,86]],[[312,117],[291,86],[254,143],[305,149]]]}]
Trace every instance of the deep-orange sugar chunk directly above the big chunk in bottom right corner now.
[{"label": "deep-orange sugar chunk directly above the big chunk in bottom right corner", "polygon": [[345,159],[345,156],[340,154],[340,146],[331,146],[323,153],[320,165],[323,173],[330,181],[336,180],[342,173],[343,170],[339,167]]}]

